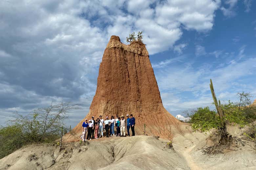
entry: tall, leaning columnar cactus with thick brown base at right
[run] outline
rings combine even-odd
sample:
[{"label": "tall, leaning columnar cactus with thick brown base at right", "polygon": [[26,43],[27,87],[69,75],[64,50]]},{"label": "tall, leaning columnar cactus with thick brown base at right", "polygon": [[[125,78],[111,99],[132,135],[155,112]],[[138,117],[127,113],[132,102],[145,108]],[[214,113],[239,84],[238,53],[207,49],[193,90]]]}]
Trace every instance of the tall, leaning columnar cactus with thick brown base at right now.
[{"label": "tall, leaning columnar cactus with thick brown base at right", "polygon": [[[216,110],[220,116],[220,120],[221,120],[221,126],[219,129],[221,131],[221,135],[222,135],[222,139],[224,139],[224,141],[226,142],[227,139],[228,139],[228,133],[227,133],[227,128],[226,128],[226,122],[225,122],[225,116],[224,116],[224,113],[223,113],[223,110],[221,108],[221,101],[217,100],[216,98],[216,95],[215,95],[215,92],[214,92],[214,88],[213,88],[213,84],[212,84],[212,79],[210,80],[210,89],[211,89],[211,93],[212,93],[212,98],[213,98],[213,101],[214,101],[214,104],[215,104],[215,107],[216,107]],[[231,137],[231,136],[230,136]]]}]

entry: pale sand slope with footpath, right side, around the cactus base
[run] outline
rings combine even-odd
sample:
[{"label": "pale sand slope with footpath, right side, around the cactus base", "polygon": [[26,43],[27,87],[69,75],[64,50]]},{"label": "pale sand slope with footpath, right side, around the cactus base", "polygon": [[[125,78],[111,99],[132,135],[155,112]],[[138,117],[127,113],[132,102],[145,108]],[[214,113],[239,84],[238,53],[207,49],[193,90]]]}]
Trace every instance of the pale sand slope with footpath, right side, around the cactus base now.
[{"label": "pale sand slope with footpath, right side, around the cactus base", "polygon": [[200,132],[176,134],[173,146],[191,170],[256,170],[255,143],[243,135],[243,129],[229,126],[227,130],[233,137],[245,142],[245,146],[238,143],[238,147],[232,147],[231,151],[226,149],[223,154],[204,154],[202,148],[212,146],[218,140],[211,141],[208,139],[210,133]]}]

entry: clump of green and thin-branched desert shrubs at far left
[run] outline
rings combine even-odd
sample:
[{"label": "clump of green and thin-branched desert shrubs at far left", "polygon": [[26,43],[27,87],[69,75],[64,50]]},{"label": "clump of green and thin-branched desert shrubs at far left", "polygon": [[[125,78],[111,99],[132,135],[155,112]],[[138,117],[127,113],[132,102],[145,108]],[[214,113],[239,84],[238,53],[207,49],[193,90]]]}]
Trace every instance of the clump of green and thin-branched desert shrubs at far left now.
[{"label": "clump of green and thin-branched desert shrubs at far left", "polygon": [[24,145],[49,143],[60,138],[63,130],[71,129],[66,128],[64,120],[74,109],[79,107],[66,102],[35,109],[25,116],[15,113],[9,125],[0,129],[0,159]]}]

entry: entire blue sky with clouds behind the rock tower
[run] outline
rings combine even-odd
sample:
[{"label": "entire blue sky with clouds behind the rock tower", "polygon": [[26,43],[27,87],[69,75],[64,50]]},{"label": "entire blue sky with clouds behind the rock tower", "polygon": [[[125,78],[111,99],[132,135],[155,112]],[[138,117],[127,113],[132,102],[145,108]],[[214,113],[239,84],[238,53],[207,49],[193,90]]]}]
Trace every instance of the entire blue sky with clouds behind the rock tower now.
[{"label": "entire blue sky with clouds behind the rock tower", "polygon": [[143,31],[165,108],[174,116],[256,94],[253,0],[1,0],[0,125],[71,101],[74,127],[89,111],[111,35]]}]

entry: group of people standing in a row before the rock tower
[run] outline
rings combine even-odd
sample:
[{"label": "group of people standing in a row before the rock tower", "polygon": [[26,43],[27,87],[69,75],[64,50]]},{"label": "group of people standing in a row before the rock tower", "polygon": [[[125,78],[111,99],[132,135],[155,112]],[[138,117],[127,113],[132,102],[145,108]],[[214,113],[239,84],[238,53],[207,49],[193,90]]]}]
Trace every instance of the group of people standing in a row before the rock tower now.
[{"label": "group of people standing in a row before the rock tower", "polygon": [[[118,115],[116,115],[116,118],[114,118],[114,116],[111,116],[111,119],[109,119],[108,116],[106,116],[104,120],[102,116],[99,116],[99,118],[94,120],[94,116],[92,116],[91,120],[88,121],[88,119],[85,119],[85,121],[83,122],[83,132],[80,138],[83,141],[92,140],[93,138],[98,139],[104,136],[103,131],[105,131],[106,137],[113,135],[119,137],[130,137],[130,128],[132,131],[132,136],[135,136],[134,126],[135,118],[133,117],[133,114],[131,114],[130,116],[126,115],[126,119],[124,118],[124,116],[119,117]],[[114,131],[115,127],[116,134]],[[127,133],[125,133],[126,130]]]}]

